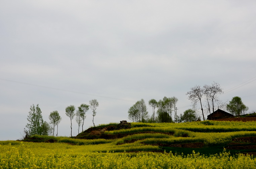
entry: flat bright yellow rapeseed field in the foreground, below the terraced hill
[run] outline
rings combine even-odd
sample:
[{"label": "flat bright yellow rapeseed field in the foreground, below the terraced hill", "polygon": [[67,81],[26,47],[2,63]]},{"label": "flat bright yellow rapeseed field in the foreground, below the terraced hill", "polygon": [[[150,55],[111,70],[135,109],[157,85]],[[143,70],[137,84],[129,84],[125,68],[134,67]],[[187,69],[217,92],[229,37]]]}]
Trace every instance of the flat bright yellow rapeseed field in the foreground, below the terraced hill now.
[{"label": "flat bright yellow rapeseed field in the foreground, below the terraced hill", "polygon": [[[97,146],[99,146],[97,148]],[[93,152],[100,145],[76,146],[64,143],[15,143],[0,146],[0,169],[252,169],[256,159],[224,152],[209,157],[193,152],[172,153]]]}]

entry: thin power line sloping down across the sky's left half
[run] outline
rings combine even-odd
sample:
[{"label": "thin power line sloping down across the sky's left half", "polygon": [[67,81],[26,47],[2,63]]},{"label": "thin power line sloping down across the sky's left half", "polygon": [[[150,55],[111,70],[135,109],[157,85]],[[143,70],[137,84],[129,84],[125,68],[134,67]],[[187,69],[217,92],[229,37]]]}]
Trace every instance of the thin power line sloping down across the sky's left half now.
[{"label": "thin power line sloping down across the sky's left half", "polygon": [[47,86],[41,86],[41,85],[38,85],[38,84],[25,83],[25,82],[8,80],[8,79],[3,79],[3,78],[0,78],[0,80],[9,81],[9,82],[12,82],[12,83],[26,84],[26,85],[29,85],[29,86],[35,86],[35,87],[40,87],[40,88],[53,89],[53,90],[58,90],[58,91],[82,94],[82,95],[96,96],[96,97],[107,98],[107,99],[114,99],[114,100],[122,100],[122,101],[127,101],[127,102],[135,102],[135,101],[132,101],[132,100],[119,99],[119,98],[113,98],[113,97],[107,97],[107,96],[101,96],[101,95],[95,95],[95,94],[89,94],[89,93],[82,93],[82,92],[76,92],[76,91],[52,88],[52,87],[47,87]]}]

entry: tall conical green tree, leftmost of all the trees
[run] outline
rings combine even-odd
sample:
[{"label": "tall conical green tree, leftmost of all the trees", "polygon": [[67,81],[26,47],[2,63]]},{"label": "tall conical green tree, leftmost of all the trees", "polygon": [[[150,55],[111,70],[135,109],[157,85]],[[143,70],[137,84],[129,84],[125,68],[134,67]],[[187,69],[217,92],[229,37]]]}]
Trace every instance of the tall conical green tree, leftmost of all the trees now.
[{"label": "tall conical green tree, leftmost of all the trees", "polygon": [[44,121],[42,117],[42,111],[39,108],[38,104],[36,107],[34,104],[30,106],[30,111],[27,120],[28,123],[26,127],[28,128],[28,135],[42,135],[42,125]]}]

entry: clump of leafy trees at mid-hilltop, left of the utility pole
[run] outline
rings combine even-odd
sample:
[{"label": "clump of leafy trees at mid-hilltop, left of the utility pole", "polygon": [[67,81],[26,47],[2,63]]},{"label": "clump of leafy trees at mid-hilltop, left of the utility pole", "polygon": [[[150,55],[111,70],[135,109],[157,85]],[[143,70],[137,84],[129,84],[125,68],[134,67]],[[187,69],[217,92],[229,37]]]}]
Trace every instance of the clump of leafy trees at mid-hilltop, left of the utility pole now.
[{"label": "clump of leafy trees at mid-hilltop, left of the utility pole", "polygon": [[[137,101],[128,110],[128,119],[133,122],[173,122],[172,112],[174,111],[174,119],[177,122],[177,113],[175,111],[178,99],[176,97],[167,98],[166,96],[159,101],[151,99],[148,101],[148,105],[152,107],[153,114],[148,116],[145,101],[143,99]],[[157,116],[155,115],[155,109],[157,110]]]}]

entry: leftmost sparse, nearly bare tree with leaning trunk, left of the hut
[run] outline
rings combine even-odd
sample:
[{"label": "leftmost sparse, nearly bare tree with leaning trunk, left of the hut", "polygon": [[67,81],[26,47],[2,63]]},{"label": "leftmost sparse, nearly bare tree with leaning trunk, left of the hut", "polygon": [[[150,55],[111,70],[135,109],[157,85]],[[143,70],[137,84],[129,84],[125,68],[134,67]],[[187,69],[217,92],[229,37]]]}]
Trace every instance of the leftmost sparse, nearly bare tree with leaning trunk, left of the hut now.
[{"label": "leftmost sparse, nearly bare tree with leaning trunk, left of the hut", "polygon": [[204,90],[200,86],[196,85],[195,87],[191,88],[190,91],[186,93],[186,95],[188,95],[188,99],[191,100],[192,103],[196,104],[198,101],[200,102],[203,119],[205,120],[202,106],[202,97],[204,95]]}]

